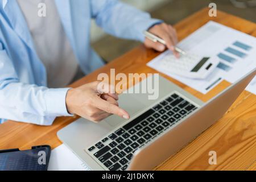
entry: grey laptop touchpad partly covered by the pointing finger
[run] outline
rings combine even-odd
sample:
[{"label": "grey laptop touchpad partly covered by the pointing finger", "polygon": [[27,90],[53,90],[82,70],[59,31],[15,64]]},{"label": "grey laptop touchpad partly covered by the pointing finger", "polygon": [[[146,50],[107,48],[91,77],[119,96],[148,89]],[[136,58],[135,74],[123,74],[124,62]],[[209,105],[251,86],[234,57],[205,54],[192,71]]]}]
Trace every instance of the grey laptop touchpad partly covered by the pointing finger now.
[{"label": "grey laptop touchpad partly covered by the pointing finger", "polygon": [[[130,114],[130,117],[133,117],[133,115],[145,108],[145,105],[138,99],[139,95],[140,94],[121,94],[119,96],[119,107],[125,109]],[[117,115],[111,115],[104,119],[104,121],[112,127],[117,127],[127,121],[127,119],[120,118]]]}]

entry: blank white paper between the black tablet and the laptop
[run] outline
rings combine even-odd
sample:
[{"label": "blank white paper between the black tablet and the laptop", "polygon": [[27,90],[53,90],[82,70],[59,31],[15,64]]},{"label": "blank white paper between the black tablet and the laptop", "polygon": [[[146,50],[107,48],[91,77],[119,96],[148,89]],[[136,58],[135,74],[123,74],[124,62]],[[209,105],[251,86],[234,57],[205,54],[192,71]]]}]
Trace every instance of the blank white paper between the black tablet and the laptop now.
[{"label": "blank white paper between the black tablet and the laptop", "polygon": [[67,146],[61,144],[51,152],[48,171],[90,171]]}]

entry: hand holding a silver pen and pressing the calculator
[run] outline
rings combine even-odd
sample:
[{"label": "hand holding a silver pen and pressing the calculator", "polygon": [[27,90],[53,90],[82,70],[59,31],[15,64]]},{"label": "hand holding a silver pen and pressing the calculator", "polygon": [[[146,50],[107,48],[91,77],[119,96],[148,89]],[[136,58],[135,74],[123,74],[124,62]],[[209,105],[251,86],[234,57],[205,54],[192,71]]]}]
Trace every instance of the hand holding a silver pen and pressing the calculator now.
[{"label": "hand holding a silver pen and pressing the calculator", "polygon": [[146,38],[144,45],[147,48],[153,48],[156,51],[162,52],[167,47],[172,52],[174,52],[174,55],[176,57],[179,56],[179,53],[174,49],[174,47],[178,42],[176,30],[174,29],[174,27],[172,27],[170,24],[161,23],[151,27],[148,31],[156,36],[159,36],[159,38],[163,39],[166,42],[166,46],[164,46],[159,42],[152,42],[150,39]]}]

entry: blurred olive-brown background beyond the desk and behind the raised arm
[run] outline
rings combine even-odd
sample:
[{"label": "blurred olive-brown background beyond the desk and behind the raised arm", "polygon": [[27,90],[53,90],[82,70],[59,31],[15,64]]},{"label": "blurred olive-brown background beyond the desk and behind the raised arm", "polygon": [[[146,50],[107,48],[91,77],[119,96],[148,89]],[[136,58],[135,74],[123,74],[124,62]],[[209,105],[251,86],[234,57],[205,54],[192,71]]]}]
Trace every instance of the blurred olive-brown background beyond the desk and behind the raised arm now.
[{"label": "blurred olive-brown background beyond the desk and behind the raised arm", "polygon": [[[147,11],[153,18],[175,24],[214,2],[217,10],[225,11],[256,23],[256,0],[120,0],[138,9]],[[111,44],[111,46],[109,46]],[[92,46],[106,61],[123,55],[141,44],[133,40],[123,40],[105,34],[92,20]]]}]

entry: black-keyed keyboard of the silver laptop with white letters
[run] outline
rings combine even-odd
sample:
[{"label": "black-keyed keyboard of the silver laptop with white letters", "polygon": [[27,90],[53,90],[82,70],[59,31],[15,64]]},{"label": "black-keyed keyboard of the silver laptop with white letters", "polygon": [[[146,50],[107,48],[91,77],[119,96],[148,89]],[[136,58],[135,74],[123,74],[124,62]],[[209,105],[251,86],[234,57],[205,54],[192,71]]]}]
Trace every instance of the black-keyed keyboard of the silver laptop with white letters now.
[{"label": "black-keyed keyboard of the silver laptop with white letters", "polygon": [[150,142],[197,107],[174,93],[109,134],[86,151],[110,171],[125,170],[138,148]]}]

